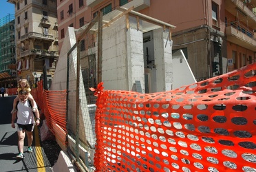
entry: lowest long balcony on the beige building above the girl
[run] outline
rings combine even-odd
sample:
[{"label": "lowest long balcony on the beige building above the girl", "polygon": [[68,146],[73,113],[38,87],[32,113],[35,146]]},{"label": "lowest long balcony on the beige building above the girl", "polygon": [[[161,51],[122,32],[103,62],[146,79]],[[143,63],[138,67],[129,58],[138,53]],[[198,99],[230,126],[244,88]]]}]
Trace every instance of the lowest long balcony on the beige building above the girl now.
[{"label": "lowest long balcony on the beige building above the girl", "polygon": [[21,58],[28,55],[58,57],[58,51],[32,49],[21,52]]}]

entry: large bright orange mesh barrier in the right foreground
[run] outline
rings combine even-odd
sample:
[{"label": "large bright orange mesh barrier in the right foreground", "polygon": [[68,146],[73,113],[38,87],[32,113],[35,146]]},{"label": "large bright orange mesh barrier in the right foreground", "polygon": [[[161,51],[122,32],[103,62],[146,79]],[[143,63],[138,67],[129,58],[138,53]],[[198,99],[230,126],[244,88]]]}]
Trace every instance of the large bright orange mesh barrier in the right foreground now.
[{"label": "large bright orange mesh barrier in the right foreground", "polygon": [[100,83],[96,171],[256,171],[255,69],[155,94]]}]

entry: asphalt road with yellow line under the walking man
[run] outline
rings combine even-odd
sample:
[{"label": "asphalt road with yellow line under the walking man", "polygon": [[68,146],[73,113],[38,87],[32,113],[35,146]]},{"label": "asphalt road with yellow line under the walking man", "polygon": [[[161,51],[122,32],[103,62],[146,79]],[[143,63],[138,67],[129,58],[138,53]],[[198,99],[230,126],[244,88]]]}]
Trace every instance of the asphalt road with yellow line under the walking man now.
[{"label": "asphalt road with yellow line under the walking man", "polygon": [[15,96],[0,97],[0,171],[52,171],[50,162],[41,148],[39,140],[39,129],[34,129],[33,152],[28,153],[28,142],[25,138],[23,160],[17,160],[19,153],[17,142],[17,127],[11,127],[12,102]]}]

